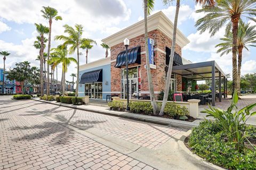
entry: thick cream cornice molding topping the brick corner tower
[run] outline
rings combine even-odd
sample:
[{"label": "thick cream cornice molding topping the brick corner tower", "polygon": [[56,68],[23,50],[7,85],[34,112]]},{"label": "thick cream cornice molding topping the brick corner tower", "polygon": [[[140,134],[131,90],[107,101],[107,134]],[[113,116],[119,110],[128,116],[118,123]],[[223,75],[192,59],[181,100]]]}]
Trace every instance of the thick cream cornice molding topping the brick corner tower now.
[{"label": "thick cream cornice molding topping the brick corner tower", "polygon": [[[166,36],[172,39],[173,37],[173,23],[167,18],[167,16],[159,11],[151,16],[148,16],[148,32],[159,30]],[[109,47],[113,47],[123,42],[124,38],[135,38],[145,33],[144,20],[141,20],[113,35],[102,39],[101,41],[107,44]],[[177,29],[176,43],[183,48],[189,43],[189,40],[183,33]]]}]

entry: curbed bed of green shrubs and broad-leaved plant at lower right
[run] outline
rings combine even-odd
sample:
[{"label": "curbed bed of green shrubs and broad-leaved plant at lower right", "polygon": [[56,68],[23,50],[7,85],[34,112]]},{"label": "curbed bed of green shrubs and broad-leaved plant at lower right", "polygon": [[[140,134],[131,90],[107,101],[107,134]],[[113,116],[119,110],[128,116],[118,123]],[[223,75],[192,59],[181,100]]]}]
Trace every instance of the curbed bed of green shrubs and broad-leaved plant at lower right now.
[{"label": "curbed bed of green shrubs and broad-leaved plant at lower right", "polygon": [[227,111],[210,107],[204,113],[214,117],[192,129],[185,145],[196,155],[227,169],[256,169],[256,128],[246,124],[256,104],[237,110],[238,96]]}]

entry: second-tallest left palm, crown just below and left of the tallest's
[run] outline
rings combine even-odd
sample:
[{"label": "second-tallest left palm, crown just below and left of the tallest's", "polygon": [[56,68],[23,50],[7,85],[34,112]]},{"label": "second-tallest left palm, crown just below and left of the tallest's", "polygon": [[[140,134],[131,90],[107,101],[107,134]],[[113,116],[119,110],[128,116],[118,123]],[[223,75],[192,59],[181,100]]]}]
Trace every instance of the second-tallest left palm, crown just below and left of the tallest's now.
[{"label": "second-tallest left palm, crown just below and left of the tallest's", "polygon": [[44,90],[43,90],[43,61],[44,61],[44,35],[49,33],[49,28],[45,27],[44,25],[37,24],[36,25],[36,31],[39,33],[40,37],[41,37],[41,48],[40,48],[40,78],[41,78],[41,96],[44,95]]}]

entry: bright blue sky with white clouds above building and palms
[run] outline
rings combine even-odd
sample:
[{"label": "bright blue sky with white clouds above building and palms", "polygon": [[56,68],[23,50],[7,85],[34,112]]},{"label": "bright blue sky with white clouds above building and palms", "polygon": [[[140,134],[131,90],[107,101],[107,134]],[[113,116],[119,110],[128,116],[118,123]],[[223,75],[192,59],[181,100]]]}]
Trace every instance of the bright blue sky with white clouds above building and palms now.
[{"label": "bright blue sky with white clouds above building and palms", "polygon": [[[84,37],[97,41],[97,45],[89,51],[89,62],[105,56],[105,50],[100,46],[101,39],[138,22],[143,17],[142,1],[138,0],[1,0],[1,4],[0,51],[7,50],[11,53],[6,59],[7,68],[25,60],[31,62],[31,65],[39,65],[39,62],[35,61],[38,50],[33,47],[37,36],[34,23],[48,25],[41,16],[42,6],[49,5],[56,8],[63,18],[62,21],[53,21],[52,37],[63,34],[62,25],[64,24],[84,25]],[[190,43],[182,49],[182,56],[192,62],[215,60],[222,70],[231,73],[231,54],[220,57],[216,53],[217,49],[214,48],[220,43],[219,38],[223,36],[223,29],[214,37],[210,37],[208,32],[199,34],[194,25],[203,14],[195,13],[195,9],[198,8],[200,6],[195,6],[194,1],[181,1],[178,28],[190,40]],[[173,21],[175,4],[163,5],[162,1],[155,1],[153,13],[160,10]],[[60,41],[53,41],[52,47],[60,43]],[[256,72],[255,52],[254,47],[250,47],[249,52],[244,51],[242,74]],[[84,54],[83,51],[82,53]],[[85,55],[81,58],[81,63],[85,63]],[[3,67],[2,60],[0,67]],[[71,64],[67,75],[75,72],[75,65]],[[61,75],[60,72],[59,75]],[[67,79],[71,81],[71,77],[67,76]]]}]

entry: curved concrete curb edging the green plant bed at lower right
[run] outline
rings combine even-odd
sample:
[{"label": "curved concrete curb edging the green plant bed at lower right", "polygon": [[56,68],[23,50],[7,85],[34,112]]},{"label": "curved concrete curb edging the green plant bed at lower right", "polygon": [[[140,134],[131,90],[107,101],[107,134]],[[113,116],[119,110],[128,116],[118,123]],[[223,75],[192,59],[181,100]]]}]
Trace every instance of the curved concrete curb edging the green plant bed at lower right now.
[{"label": "curved concrete curb edging the green plant bed at lower right", "polygon": [[190,135],[192,131],[189,130],[186,133],[184,133],[182,135],[182,137],[180,137],[180,140],[178,141],[178,145],[180,146],[180,148],[185,151],[189,156],[193,157],[194,159],[198,160],[199,162],[202,162],[204,164],[206,164],[207,166],[212,167],[213,169],[219,169],[219,170],[225,170],[225,168],[222,168],[220,166],[214,165],[212,163],[206,162],[204,158],[201,158],[199,156],[197,156],[196,154],[194,154],[193,152],[191,152],[186,146],[185,146],[185,139]]}]

